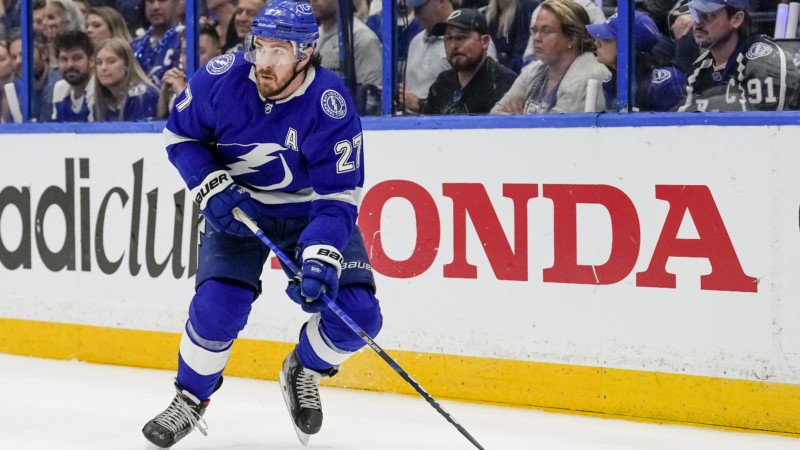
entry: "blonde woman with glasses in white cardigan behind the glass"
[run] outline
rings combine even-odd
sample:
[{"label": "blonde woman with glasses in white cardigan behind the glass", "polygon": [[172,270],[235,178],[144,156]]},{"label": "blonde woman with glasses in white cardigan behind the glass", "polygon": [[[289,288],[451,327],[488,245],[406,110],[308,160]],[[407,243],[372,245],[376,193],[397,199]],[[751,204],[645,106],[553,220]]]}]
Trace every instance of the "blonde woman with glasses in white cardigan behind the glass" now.
[{"label": "blonde woman with glasses in white cardigan behind the glass", "polygon": [[[546,0],[531,27],[539,60],[525,66],[493,114],[580,113],[586,105],[589,80],[611,74],[594,56],[594,42],[586,31],[589,15],[571,0]],[[598,89],[594,111],[604,106]]]}]

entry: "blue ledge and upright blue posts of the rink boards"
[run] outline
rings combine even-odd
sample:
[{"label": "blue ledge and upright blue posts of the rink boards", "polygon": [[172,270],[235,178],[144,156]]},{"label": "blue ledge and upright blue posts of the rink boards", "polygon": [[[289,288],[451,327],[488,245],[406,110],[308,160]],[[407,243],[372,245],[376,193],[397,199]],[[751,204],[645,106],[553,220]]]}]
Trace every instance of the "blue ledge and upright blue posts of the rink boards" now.
[{"label": "blue ledge and upright blue posts of the rink boards", "polygon": [[[350,0],[339,0],[350,1]],[[394,24],[397,23],[397,6],[394,0],[382,0],[382,41],[392,45],[383,45],[383,79],[384,86],[395,86],[397,80],[396,36]],[[164,128],[163,121],[149,122],[108,122],[108,123],[28,123],[30,117],[29,99],[32,79],[32,2],[23,1],[21,5],[21,30],[23,47],[22,75],[23,91],[20,103],[23,109],[23,123],[0,124],[0,133],[155,133]],[[197,23],[199,22],[199,0],[186,1],[187,20],[186,35],[191,39],[186,43],[187,78],[197,70]],[[782,112],[703,112],[703,113],[649,113],[630,112],[630,79],[634,71],[633,41],[630,36],[630,24],[634,12],[634,0],[618,3],[618,39],[617,39],[617,104],[616,113],[583,113],[583,114],[537,114],[517,116],[393,116],[391,89],[382,90],[381,110],[379,117],[363,117],[365,129],[373,130],[412,130],[412,129],[472,129],[472,128],[575,128],[575,127],[648,127],[648,126],[785,126],[800,125],[800,111]]]}]

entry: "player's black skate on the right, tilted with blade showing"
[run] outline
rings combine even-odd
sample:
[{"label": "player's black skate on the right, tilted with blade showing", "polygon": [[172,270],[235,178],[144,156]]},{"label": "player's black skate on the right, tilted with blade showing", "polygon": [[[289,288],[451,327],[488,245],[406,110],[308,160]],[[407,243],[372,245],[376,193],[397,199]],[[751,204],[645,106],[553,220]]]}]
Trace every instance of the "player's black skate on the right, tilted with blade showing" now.
[{"label": "player's black skate on the right, tilted with blade showing", "polygon": [[297,350],[283,361],[279,382],[292,424],[303,445],[322,427],[322,403],[319,398],[319,380],[330,378],[338,372],[331,368],[325,372],[307,369],[300,363]]}]

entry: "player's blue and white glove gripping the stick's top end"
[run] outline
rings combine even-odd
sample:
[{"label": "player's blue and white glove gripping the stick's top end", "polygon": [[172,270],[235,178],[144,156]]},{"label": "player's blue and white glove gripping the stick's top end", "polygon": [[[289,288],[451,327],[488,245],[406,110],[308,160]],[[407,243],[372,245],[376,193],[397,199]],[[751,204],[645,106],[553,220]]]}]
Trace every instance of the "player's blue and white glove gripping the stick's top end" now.
[{"label": "player's blue and white glove gripping the stick's top end", "polygon": [[251,236],[253,233],[233,217],[233,208],[238,207],[248,217],[258,217],[258,205],[250,198],[250,193],[234,183],[228,172],[217,170],[210,173],[199,186],[192,189],[194,202],[200,205],[203,217],[217,231],[225,231],[237,236]]}]

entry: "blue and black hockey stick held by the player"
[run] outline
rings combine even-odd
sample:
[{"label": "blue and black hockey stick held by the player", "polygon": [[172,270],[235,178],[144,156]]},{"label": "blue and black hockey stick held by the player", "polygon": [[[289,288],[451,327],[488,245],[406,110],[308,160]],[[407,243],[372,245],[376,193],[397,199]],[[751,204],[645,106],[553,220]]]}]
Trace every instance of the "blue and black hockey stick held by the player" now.
[{"label": "blue and black hockey stick held by the player", "polygon": [[[266,244],[267,247],[270,248],[270,250],[275,252],[275,255],[281,260],[281,262],[283,262],[284,265],[286,265],[286,267],[289,268],[289,270],[292,271],[292,273],[294,273],[296,276],[300,276],[300,269],[298,269],[297,266],[294,265],[292,260],[289,259],[275,244],[272,243],[272,241],[269,240],[269,238],[264,234],[264,232],[261,231],[260,228],[258,228],[258,225],[256,225],[253,219],[247,217],[247,214],[243,213],[242,210],[239,208],[233,208],[233,217],[235,217],[237,220],[245,224],[247,228],[249,228],[250,231],[253,232],[253,234],[258,236],[261,239],[261,241],[264,242],[264,244]],[[476,441],[475,438],[472,437],[472,435],[469,434],[469,432],[467,432],[467,430],[465,430],[464,427],[462,427],[461,424],[458,423],[458,421],[452,415],[450,415],[450,413],[448,413],[442,407],[442,405],[440,405],[439,402],[436,401],[435,398],[431,396],[431,394],[428,394],[428,392],[425,389],[423,389],[422,386],[419,385],[419,383],[417,383],[413,378],[411,378],[411,375],[409,375],[408,372],[406,372],[402,367],[400,367],[400,365],[397,364],[397,362],[394,359],[392,359],[391,356],[389,356],[378,344],[376,344],[375,341],[373,341],[372,338],[369,337],[369,335],[364,330],[362,330],[361,327],[359,327],[358,324],[356,324],[353,321],[353,319],[351,319],[350,316],[348,316],[347,313],[342,310],[342,308],[339,307],[339,305],[334,303],[333,300],[328,298],[328,296],[325,294],[322,294],[322,301],[324,301],[325,304],[328,305],[328,308],[333,310],[333,312],[335,312],[336,315],[339,316],[339,318],[342,319],[342,321],[345,324],[347,324],[347,326],[350,327],[351,330],[353,330],[356,334],[358,334],[358,336],[364,342],[366,342],[367,345],[370,346],[370,348],[375,350],[375,353],[377,353],[378,356],[383,358],[383,360],[386,361],[387,364],[392,366],[392,369],[394,369],[395,372],[397,372],[401,377],[403,377],[403,379],[406,380],[406,382],[410,384],[411,387],[413,387],[414,390],[417,391],[419,395],[422,396],[422,398],[427,400],[428,403],[430,403],[431,406],[433,406],[433,408],[439,412],[439,414],[444,416],[444,418],[447,419],[448,422],[453,424],[453,426],[456,427],[456,429],[461,434],[463,434],[464,437],[469,439],[472,445],[479,448],[480,450],[484,450],[481,444],[479,444],[478,441]]]}]

